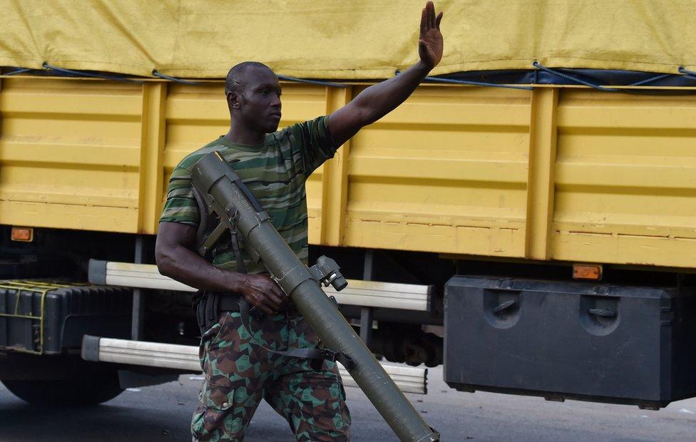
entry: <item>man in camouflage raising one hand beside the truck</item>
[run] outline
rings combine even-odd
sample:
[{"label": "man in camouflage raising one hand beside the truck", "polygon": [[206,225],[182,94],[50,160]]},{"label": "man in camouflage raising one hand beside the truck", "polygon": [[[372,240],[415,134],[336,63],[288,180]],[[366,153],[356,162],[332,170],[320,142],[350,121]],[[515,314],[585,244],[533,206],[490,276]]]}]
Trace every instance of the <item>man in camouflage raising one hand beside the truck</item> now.
[{"label": "man in camouflage raising one hand beside the truck", "polygon": [[241,441],[261,399],[287,420],[298,441],[347,441],[350,415],[334,362],[316,364],[275,353],[315,348],[317,337],[243,244],[247,273],[237,272],[229,241],[215,246],[212,263],[195,253],[200,214],[191,168],[203,155],[218,150],[306,264],[305,181],[360,128],[406,100],[436,66],[443,48],[441,17],[429,1],[421,15],[420,60],[414,66],[370,86],[331,115],[280,131],[281,88],[275,73],[261,63],[246,62],[227,74],[230,130],[188,155],[173,171],[155,247],[162,274],[205,293],[243,296],[255,309],[246,319],[239,309],[220,312],[218,322],[202,336],[205,381],[191,425],[194,440]]}]

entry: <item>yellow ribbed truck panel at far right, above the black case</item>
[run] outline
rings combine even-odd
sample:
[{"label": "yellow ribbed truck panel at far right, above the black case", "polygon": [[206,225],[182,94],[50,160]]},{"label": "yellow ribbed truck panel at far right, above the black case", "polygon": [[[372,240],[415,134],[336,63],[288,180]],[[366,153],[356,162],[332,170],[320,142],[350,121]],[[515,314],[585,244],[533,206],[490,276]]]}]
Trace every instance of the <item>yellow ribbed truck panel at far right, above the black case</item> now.
[{"label": "yellow ribbed truck panel at far right, above the black case", "polygon": [[555,259],[696,265],[692,96],[563,91]]}]

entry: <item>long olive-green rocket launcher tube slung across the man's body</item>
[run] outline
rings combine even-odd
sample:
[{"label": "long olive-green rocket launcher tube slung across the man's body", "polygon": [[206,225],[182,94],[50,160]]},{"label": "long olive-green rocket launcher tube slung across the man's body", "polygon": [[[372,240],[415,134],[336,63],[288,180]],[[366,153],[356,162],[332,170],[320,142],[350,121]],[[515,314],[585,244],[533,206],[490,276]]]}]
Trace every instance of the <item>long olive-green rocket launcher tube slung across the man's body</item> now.
[{"label": "long olive-green rocket launcher tube slung across the man's body", "polygon": [[[401,441],[439,441],[439,433],[421,418],[322,290],[322,283],[337,290],[347,285],[333,259],[321,257],[311,269],[303,264],[220,153],[198,160],[192,178],[205,203],[220,217],[221,227],[212,236],[227,229],[242,235],[247,253],[265,265],[325,346],[352,360],[346,369],[396,436]],[[206,241],[208,247],[215,238],[211,240]]]}]

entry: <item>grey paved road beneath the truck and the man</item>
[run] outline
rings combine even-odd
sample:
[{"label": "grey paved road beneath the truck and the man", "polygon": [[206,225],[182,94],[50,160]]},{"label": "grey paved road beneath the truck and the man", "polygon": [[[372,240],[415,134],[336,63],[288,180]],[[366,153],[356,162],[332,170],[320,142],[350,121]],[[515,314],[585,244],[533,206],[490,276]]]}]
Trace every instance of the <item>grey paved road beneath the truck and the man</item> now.
[{"label": "grey paved road beneath the truck and the man", "polygon": [[[409,394],[443,441],[696,441],[696,399],[661,411],[577,401],[449,389],[431,369],[429,394]],[[188,421],[200,377],[126,391],[101,406],[50,409],[29,406],[0,386],[0,441],[190,441]],[[359,389],[347,389],[353,441],[395,441]],[[290,441],[287,424],[265,404],[246,441]]]}]

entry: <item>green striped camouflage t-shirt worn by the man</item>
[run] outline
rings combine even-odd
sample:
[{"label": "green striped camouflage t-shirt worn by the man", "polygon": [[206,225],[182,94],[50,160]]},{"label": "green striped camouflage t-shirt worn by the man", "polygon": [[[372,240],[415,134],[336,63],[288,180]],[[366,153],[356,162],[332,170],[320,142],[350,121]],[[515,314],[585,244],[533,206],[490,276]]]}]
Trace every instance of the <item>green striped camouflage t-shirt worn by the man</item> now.
[{"label": "green striped camouflage t-shirt worn by the man", "polygon": [[[191,170],[203,155],[218,150],[257,197],[293,252],[307,264],[305,181],[324,161],[332,158],[337,149],[327,121],[326,116],[319,117],[269,133],[262,145],[240,145],[220,137],[190,153],[173,170],[160,222],[181,222],[198,227],[200,215],[191,188]],[[241,238],[240,241],[247,272],[266,272],[263,264],[252,262]],[[228,235],[215,245],[213,264],[223,269],[237,269]]]}]

